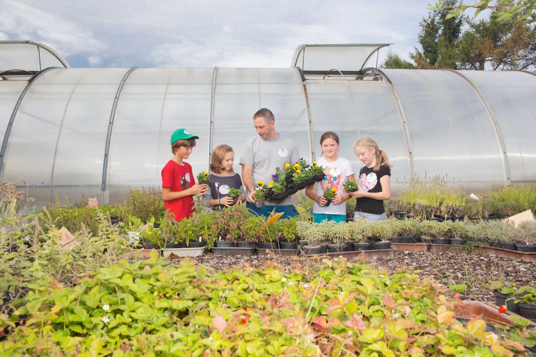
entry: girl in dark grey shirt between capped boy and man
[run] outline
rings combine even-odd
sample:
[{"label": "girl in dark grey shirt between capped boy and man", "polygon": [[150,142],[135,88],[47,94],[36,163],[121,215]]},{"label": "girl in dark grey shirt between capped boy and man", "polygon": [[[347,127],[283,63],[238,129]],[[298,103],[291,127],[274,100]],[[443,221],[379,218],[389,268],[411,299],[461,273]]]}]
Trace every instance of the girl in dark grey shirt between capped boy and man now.
[{"label": "girl in dark grey shirt between capped boy and man", "polygon": [[240,189],[236,204],[245,201],[244,189],[240,175],[233,171],[234,151],[228,145],[218,145],[212,151],[209,175],[209,189],[203,194],[203,202],[212,209],[222,209],[233,205],[229,196],[232,187]]}]

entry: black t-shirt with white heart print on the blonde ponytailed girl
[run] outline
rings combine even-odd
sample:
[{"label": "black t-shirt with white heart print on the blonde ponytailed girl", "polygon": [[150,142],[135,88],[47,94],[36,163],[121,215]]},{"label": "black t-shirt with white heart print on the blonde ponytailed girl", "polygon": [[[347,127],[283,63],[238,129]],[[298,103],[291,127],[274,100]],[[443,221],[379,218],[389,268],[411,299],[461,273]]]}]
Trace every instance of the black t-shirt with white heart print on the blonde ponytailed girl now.
[{"label": "black t-shirt with white heart print on the blonde ponytailed girl", "polygon": [[[379,166],[379,170],[377,172],[374,171],[374,168],[367,168],[367,166],[363,166],[361,170],[359,170],[359,178],[357,180],[358,185],[363,191],[366,192],[382,192],[382,184],[379,182],[379,179],[385,175],[391,176],[389,166]],[[385,212],[385,208],[383,207],[383,200],[361,197],[356,199],[355,211],[381,215]]]}]

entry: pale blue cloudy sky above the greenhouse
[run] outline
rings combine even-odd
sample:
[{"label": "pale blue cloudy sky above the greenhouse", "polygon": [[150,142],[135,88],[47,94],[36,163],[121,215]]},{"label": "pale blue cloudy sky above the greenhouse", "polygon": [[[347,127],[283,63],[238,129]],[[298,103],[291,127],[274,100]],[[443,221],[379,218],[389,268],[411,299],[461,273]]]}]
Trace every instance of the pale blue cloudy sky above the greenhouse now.
[{"label": "pale blue cloudy sky above the greenhouse", "polygon": [[313,43],[393,43],[407,59],[430,3],[0,0],[0,40],[42,42],[72,67],[288,67]]}]

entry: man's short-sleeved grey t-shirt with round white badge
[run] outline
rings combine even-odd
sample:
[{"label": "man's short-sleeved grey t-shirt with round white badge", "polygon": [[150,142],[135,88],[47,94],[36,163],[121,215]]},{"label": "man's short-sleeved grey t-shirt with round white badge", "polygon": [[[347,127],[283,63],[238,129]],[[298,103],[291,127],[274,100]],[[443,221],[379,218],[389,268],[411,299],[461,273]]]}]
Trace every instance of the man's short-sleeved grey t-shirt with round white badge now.
[{"label": "man's short-sleeved grey t-shirt with round white badge", "polygon": [[[285,168],[288,162],[293,165],[300,159],[300,153],[294,140],[285,135],[276,139],[265,140],[256,135],[244,144],[240,164],[253,166],[253,184],[263,181],[265,185],[272,180],[276,168]],[[246,195],[247,197],[247,195]],[[292,204],[292,196],[284,200],[266,200],[268,206],[283,206]]]}]

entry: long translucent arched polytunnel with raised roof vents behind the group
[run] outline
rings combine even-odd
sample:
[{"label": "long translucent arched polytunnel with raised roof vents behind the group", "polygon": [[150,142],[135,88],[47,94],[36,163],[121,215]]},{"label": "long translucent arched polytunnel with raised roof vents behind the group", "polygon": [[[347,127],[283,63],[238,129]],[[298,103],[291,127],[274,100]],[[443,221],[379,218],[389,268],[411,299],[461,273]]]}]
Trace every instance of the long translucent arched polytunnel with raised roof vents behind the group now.
[{"label": "long translucent arched polytunnel with raised roof vents behind the group", "polygon": [[240,173],[252,115],[266,107],[308,161],[331,130],[359,170],[353,143],[372,136],[390,156],[395,194],[434,175],[473,191],[535,183],[534,73],[379,70],[386,45],[301,45],[288,68],[73,69],[39,43],[0,42],[0,179],[22,178],[38,204],[120,202],[129,188],[161,185],[180,127],[200,138],[194,174],[222,143]]}]

